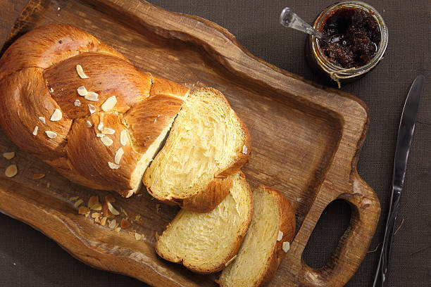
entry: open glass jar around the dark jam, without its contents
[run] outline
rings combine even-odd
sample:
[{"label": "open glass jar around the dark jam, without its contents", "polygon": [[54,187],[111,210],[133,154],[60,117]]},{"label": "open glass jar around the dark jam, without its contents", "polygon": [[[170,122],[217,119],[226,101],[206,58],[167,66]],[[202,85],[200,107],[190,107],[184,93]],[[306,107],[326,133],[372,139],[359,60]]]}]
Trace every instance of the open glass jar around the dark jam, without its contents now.
[{"label": "open glass jar around the dark jam, without its contents", "polygon": [[313,27],[322,32],[325,20],[327,20],[330,15],[335,13],[335,11],[342,8],[362,9],[370,13],[370,15],[377,21],[377,25],[380,28],[380,43],[377,46],[377,52],[366,65],[346,69],[339,65],[335,65],[335,63],[330,62],[330,60],[325,56],[322,49],[320,48],[320,45],[318,44],[318,39],[316,37],[309,36],[307,38],[306,58],[308,60],[308,63],[324,77],[328,77],[337,82],[338,87],[340,87],[340,83],[352,82],[355,79],[362,77],[370,70],[373,70],[373,68],[375,68],[377,63],[382,60],[383,55],[385,54],[388,37],[387,26],[380,13],[378,13],[377,10],[372,6],[361,1],[344,1],[325,8],[318,15],[318,18],[314,22]]}]

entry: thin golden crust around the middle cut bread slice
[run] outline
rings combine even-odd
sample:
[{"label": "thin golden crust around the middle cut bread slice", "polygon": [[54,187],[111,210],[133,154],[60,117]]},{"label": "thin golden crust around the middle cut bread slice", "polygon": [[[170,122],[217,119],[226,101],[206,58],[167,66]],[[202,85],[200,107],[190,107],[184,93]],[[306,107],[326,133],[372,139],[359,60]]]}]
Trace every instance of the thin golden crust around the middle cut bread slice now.
[{"label": "thin golden crust around the middle cut bread slice", "polygon": [[[249,184],[246,181],[245,175],[241,171],[239,171],[239,179],[242,182],[242,186],[244,186],[244,190],[247,193],[247,197],[249,197],[249,199],[250,199],[250,206],[249,206],[249,209],[247,211],[246,220],[243,222],[242,226],[239,228],[239,231],[237,232],[237,240],[235,241],[235,243],[232,244],[232,246],[230,246],[230,252],[225,257],[225,260],[223,260],[223,262],[220,262],[220,264],[218,264],[218,266],[216,266],[212,269],[202,269],[200,267],[196,267],[192,264],[189,264],[189,262],[187,262],[187,260],[185,260],[184,258],[175,258],[175,257],[170,256],[170,254],[163,253],[159,248],[159,245],[158,245],[159,241],[156,242],[156,253],[165,260],[168,260],[168,261],[174,262],[174,263],[183,264],[187,269],[190,269],[193,272],[196,272],[199,274],[211,274],[211,273],[219,272],[219,271],[223,270],[225,268],[226,264],[228,262],[230,262],[232,260],[232,258],[235,257],[235,255],[237,255],[238,250],[241,247],[241,243],[242,243],[244,236],[246,234],[246,231],[249,228],[251,218],[253,217],[253,209],[254,209],[253,192],[251,191]],[[231,179],[231,181],[232,181],[232,179]],[[184,212],[184,211],[180,210],[180,212]],[[170,222],[168,224],[168,227],[166,227],[166,230],[172,224],[175,224],[177,219],[180,217],[180,212],[178,212],[178,214],[175,216],[175,218],[172,220],[172,222]]]}]

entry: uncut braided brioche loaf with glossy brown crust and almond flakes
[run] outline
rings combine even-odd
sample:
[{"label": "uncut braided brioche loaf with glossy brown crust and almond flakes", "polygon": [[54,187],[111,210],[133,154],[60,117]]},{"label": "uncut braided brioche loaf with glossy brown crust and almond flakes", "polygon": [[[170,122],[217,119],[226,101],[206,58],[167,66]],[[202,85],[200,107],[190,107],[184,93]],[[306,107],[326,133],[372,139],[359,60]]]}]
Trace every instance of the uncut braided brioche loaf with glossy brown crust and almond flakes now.
[{"label": "uncut braided brioche loaf with glossy brown crust and almond flakes", "polygon": [[189,89],[137,70],[70,25],[45,25],[0,59],[0,125],[78,184],[131,196]]}]

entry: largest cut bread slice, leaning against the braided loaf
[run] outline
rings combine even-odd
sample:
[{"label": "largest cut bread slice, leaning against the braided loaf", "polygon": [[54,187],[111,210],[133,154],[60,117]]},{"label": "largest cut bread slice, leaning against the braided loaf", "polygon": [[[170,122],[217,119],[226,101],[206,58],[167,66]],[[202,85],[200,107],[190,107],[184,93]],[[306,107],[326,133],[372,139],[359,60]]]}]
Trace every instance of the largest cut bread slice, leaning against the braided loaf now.
[{"label": "largest cut bread slice, leaning against the braided loaf", "polygon": [[183,104],[144,185],[165,203],[211,211],[229,192],[230,176],[247,162],[250,147],[249,132],[223,94],[198,89]]}]

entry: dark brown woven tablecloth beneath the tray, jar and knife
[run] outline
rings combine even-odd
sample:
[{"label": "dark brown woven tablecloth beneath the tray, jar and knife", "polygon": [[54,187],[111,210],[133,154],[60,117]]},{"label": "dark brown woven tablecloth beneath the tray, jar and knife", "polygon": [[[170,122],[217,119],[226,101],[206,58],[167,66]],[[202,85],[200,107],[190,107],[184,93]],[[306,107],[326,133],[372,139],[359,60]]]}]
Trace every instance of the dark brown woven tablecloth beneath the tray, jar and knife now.
[{"label": "dark brown woven tablecloth beneath the tray, jar and knife", "polygon": [[[335,0],[154,0],[171,11],[199,15],[227,28],[246,49],[280,68],[306,79],[313,75],[304,58],[305,34],[278,24],[290,6],[308,23]],[[366,77],[342,89],[370,108],[370,129],[358,172],[377,192],[382,217],[370,251],[382,241],[387,215],[396,134],[408,89],[419,73],[425,75],[416,132],[408,160],[404,193],[394,236],[386,286],[425,287],[431,282],[431,2],[367,0],[389,27],[384,60]],[[25,0],[0,0],[0,45],[25,5]],[[320,267],[337,246],[349,224],[350,209],[332,203],[320,218],[304,258]],[[379,252],[370,252],[346,286],[371,286]],[[0,286],[146,286],[127,276],[102,272],[73,259],[54,241],[31,227],[0,214]]]}]

